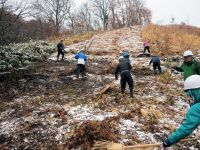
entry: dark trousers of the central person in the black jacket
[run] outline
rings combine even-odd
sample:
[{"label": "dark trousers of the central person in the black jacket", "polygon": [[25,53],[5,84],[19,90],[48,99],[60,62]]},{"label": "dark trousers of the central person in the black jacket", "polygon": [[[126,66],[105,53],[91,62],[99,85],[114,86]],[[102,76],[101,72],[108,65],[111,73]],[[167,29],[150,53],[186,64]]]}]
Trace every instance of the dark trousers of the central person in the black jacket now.
[{"label": "dark trousers of the central person in the black jacket", "polygon": [[131,77],[130,73],[122,73],[121,74],[121,93],[124,94],[125,88],[126,88],[126,82],[129,85],[130,89],[130,96],[133,97],[133,79]]}]

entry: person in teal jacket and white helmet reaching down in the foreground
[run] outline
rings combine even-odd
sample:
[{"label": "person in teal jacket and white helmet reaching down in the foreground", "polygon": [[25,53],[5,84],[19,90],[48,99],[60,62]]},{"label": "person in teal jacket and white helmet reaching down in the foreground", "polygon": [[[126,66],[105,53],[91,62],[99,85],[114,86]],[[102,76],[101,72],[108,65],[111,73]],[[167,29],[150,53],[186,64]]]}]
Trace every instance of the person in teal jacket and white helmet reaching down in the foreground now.
[{"label": "person in teal jacket and white helmet reaching down in the foreground", "polygon": [[163,147],[170,147],[190,135],[200,125],[200,75],[191,75],[184,82],[184,91],[192,99],[182,125],[163,142]]}]

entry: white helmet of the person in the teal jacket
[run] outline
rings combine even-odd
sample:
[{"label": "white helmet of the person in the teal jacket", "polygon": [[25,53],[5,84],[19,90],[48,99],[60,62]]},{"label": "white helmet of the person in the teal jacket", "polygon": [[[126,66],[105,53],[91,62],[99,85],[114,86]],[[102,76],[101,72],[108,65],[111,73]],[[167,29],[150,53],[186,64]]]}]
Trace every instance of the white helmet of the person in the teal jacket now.
[{"label": "white helmet of the person in the teal jacket", "polygon": [[191,75],[184,82],[184,90],[200,88],[200,75]]}]

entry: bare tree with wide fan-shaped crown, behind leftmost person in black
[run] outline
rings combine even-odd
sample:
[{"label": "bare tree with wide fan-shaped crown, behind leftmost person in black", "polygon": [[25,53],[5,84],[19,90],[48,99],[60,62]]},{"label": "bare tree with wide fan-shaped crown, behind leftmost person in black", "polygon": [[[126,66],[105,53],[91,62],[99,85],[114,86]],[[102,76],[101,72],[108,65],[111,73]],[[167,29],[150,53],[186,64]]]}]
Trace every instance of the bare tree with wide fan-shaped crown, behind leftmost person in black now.
[{"label": "bare tree with wide fan-shaped crown, behind leftmost person in black", "polygon": [[35,0],[33,15],[52,22],[58,34],[71,8],[71,0]]}]

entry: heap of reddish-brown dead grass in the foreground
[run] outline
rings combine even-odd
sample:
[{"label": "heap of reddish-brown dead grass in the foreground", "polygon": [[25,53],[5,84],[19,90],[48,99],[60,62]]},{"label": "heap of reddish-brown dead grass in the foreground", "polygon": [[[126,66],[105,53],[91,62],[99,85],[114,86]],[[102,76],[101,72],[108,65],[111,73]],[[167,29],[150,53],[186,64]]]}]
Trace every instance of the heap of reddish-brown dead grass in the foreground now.
[{"label": "heap of reddish-brown dead grass in the foreground", "polygon": [[[113,122],[118,118],[113,117]],[[74,131],[73,137],[66,142],[66,146],[88,150],[92,148],[95,141],[114,141],[117,142],[117,136],[112,125],[112,118],[103,121],[87,121]]]}]

